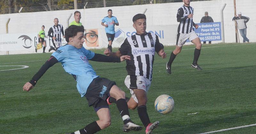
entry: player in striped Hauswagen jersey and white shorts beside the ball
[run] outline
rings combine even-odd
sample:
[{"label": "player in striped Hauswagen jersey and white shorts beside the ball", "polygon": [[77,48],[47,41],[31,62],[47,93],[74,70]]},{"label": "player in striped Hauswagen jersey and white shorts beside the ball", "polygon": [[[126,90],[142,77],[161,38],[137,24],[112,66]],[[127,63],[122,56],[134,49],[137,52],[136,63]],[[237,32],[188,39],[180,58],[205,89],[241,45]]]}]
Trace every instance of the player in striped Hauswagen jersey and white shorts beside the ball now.
[{"label": "player in striped Hauswagen jersey and white shorts beside the ball", "polygon": [[[128,108],[138,110],[141,122],[146,128],[146,134],[151,134],[159,121],[151,123],[147,113],[147,93],[152,81],[153,63],[155,52],[162,58],[166,57],[164,46],[154,33],[146,32],[146,15],[137,14],[132,18],[136,34],[127,37],[117,52],[109,49],[104,51],[108,56],[131,56],[126,61],[127,77],[124,80],[127,88],[130,89],[132,97],[127,102]],[[109,103],[116,102],[113,97],[108,99]]]}]

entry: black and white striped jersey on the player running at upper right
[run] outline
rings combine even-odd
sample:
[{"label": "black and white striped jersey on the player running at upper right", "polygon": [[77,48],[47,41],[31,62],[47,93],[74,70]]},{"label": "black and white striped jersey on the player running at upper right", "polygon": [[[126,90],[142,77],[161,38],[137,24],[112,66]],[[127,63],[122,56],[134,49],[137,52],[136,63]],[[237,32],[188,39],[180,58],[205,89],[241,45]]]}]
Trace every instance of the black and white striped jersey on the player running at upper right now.
[{"label": "black and white striped jersey on the player running at upper right", "polygon": [[195,23],[193,22],[193,18],[188,18],[188,15],[193,13],[194,8],[191,6],[182,5],[178,9],[177,21],[180,22],[178,33],[190,33],[191,31],[194,31],[193,25]]}]

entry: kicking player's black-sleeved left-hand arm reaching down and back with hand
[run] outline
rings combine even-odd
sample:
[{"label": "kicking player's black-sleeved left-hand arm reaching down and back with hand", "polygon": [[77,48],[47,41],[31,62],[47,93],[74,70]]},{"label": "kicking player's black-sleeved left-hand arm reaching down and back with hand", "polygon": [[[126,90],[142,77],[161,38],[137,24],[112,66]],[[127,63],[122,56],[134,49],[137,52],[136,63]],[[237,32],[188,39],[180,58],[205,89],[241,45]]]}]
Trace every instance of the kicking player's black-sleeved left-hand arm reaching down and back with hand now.
[{"label": "kicking player's black-sleeved left-hand arm reaching down and back with hand", "polygon": [[58,62],[59,61],[54,56],[51,56],[39,69],[39,71],[33,76],[33,78],[23,86],[23,91],[31,90],[36,85],[36,82],[44,75],[44,73],[55,63]]}]

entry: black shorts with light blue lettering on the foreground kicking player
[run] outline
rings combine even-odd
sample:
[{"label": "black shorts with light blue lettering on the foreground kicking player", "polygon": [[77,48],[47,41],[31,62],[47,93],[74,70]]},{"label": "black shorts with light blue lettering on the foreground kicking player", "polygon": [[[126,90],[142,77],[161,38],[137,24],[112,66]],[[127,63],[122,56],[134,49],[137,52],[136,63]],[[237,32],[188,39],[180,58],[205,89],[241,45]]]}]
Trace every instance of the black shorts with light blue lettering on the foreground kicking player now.
[{"label": "black shorts with light blue lettering on the foreground kicking player", "polygon": [[84,95],[89,106],[94,108],[108,106],[107,98],[110,96],[109,91],[113,85],[116,85],[116,82],[107,78],[94,78]]}]

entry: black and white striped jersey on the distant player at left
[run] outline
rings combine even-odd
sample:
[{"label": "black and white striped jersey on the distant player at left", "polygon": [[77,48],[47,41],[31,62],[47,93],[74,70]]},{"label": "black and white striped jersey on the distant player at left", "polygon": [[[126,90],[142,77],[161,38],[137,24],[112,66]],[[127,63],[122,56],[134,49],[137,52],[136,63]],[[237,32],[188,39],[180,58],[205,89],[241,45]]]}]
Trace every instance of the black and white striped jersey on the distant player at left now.
[{"label": "black and white striped jersey on the distant player at left", "polygon": [[58,26],[53,25],[48,31],[48,36],[56,37],[55,41],[61,42],[61,33],[64,35],[63,26],[60,24]]}]

